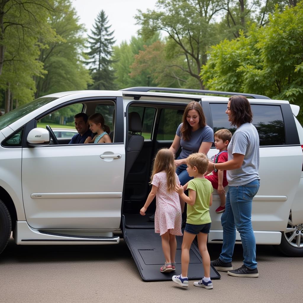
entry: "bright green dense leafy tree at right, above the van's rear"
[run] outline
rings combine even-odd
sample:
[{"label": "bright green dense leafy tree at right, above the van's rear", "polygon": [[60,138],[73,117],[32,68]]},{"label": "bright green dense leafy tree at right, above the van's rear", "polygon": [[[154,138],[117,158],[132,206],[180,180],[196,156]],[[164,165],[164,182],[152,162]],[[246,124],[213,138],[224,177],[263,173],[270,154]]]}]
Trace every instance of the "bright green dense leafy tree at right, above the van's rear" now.
[{"label": "bright green dense leafy tree at right, above the van's rear", "polygon": [[246,92],[301,106],[303,122],[303,3],[278,5],[265,27],[252,24],[247,36],[213,46],[201,78],[211,90]]}]

